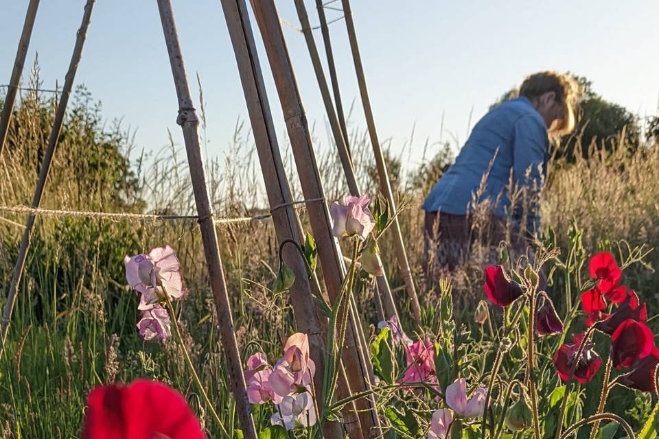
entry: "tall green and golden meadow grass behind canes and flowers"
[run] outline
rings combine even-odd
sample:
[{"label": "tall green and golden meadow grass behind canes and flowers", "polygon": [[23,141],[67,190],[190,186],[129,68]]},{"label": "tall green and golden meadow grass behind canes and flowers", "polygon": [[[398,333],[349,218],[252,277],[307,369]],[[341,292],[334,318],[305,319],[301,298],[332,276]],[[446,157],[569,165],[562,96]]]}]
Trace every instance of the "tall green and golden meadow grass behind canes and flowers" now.
[{"label": "tall green and golden meadow grass behind canes and flowers", "polygon": [[[38,88],[38,71],[33,88]],[[8,150],[0,158],[0,205],[28,204],[36,182],[43,148],[49,134],[56,99],[38,92],[25,93],[16,107]],[[205,119],[203,119],[205,120]],[[205,127],[202,126],[202,129]],[[315,131],[314,131],[315,133]],[[202,135],[202,141],[205,134]],[[316,144],[331,145],[314,134]],[[407,147],[412,147],[411,142]],[[354,128],[352,148],[359,185],[375,193],[373,160],[365,132]],[[43,206],[51,209],[127,211],[134,213],[194,213],[187,163],[171,137],[160,152],[139,152],[130,132],[119,123],[106,123],[91,95],[78,89],[62,131]],[[423,213],[418,206],[446,168],[450,154],[444,145],[426,143],[427,160],[408,175],[400,166],[393,172],[400,204],[407,206],[400,223],[422,302],[434,295],[424,289]],[[294,165],[284,147],[286,168],[294,197],[301,199],[293,181]],[[437,151],[432,151],[437,150]],[[330,200],[342,198],[347,188],[338,158],[326,147],[319,157],[325,191]],[[441,159],[433,159],[441,153]],[[424,156],[426,156],[424,154]],[[130,158],[132,157],[132,160]],[[396,158],[390,157],[391,163]],[[263,182],[248,128],[238,121],[224,159],[207,163],[213,206],[219,216],[255,215],[266,211]],[[583,230],[584,244],[594,249],[601,237],[633,246],[659,244],[659,151],[645,147],[629,154],[620,147],[613,154],[594,154],[590,160],[555,163],[544,192],[544,226],[555,230],[566,244],[570,221]],[[304,221],[304,211],[301,211]],[[22,233],[23,215],[0,217],[0,283],[6,287]],[[170,244],[181,259],[185,286],[182,302],[184,337],[200,370],[209,396],[220,408],[229,431],[236,425],[233,401],[224,381],[222,347],[213,327],[216,316],[207,285],[203,248],[194,221],[108,222],[102,219],[42,217],[38,220],[27,269],[19,289],[5,355],[0,361],[0,436],[6,438],[71,438],[80,431],[84,398],[100,383],[149,377],[172,383],[181,390],[211,437],[212,420],[176,344],[143,342],[137,335],[137,297],[125,286],[122,259],[154,246]],[[231,292],[238,342],[244,356],[262,350],[277,357],[286,336],[294,329],[286,296],[271,294],[275,279],[277,241],[269,221],[219,229],[220,248]],[[393,243],[385,235],[380,248],[394,294],[403,298]],[[649,262],[656,265],[652,253]],[[633,285],[647,289],[659,277],[648,268],[632,272]],[[477,294],[481,278],[465,271],[460,294]],[[371,333],[375,313],[372,286],[362,281],[357,297]],[[472,296],[470,296],[472,297]],[[0,299],[4,302],[4,298]],[[400,300],[404,302],[404,300]],[[454,313],[471,318],[469,300]],[[474,302],[473,300],[471,302]],[[475,303],[475,302],[474,302]],[[402,309],[403,315],[408,310]],[[369,331],[367,331],[368,333]],[[259,425],[269,414],[255,410]]]}]

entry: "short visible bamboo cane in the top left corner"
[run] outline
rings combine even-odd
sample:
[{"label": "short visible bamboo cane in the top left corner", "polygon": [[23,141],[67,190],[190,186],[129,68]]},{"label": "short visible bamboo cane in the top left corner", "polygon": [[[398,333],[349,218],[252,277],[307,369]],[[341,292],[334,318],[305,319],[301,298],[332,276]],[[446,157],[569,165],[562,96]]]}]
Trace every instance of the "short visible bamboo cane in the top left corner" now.
[{"label": "short visible bamboo cane in the top left corner", "polygon": [[25,14],[25,22],[23,23],[23,32],[21,33],[21,39],[19,40],[19,48],[16,50],[12,78],[9,80],[7,95],[5,96],[5,102],[2,107],[2,114],[0,114],[0,157],[2,157],[2,152],[5,149],[5,140],[7,139],[9,123],[12,119],[12,112],[14,111],[14,102],[16,102],[16,92],[19,90],[23,65],[25,65],[25,56],[27,56],[27,47],[30,47],[30,37],[32,36],[34,17],[36,17],[36,10],[38,7],[39,0],[30,0],[30,4],[27,5],[27,13]]}]

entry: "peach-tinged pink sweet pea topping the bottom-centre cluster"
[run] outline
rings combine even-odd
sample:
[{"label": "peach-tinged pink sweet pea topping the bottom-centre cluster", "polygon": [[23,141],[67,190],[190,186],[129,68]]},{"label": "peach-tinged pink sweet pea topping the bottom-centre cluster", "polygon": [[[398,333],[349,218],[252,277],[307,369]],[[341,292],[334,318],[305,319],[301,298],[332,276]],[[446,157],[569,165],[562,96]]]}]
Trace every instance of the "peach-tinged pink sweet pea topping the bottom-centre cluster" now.
[{"label": "peach-tinged pink sweet pea topping the bottom-centre cluster", "polygon": [[289,394],[308,389],[316,373],[316,365],[309,357],[306,334],[294,333],[288,337],[284,349],[284,357],[277,361],[268,378],[268,384],[275,392],[275,403]]}]

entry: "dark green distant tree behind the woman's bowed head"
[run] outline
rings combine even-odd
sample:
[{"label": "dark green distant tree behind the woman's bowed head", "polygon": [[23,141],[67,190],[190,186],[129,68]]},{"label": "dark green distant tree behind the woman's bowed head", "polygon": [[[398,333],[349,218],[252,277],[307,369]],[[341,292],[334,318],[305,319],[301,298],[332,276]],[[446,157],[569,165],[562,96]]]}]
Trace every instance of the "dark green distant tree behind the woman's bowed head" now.
[{"label": "dark green distant tree behind the woman's bowed head", "polygon": [[[579,84],[580,93],[575,116],[577,126],[575,132],[554,145],[553,153],[557,158],[575,159],[575,154],[581,152],[583,158],[599,150],[612,150],[618,143],[618,136],[624,133],[625,146],[635,150],[640,143],[640,126],[638,118],[625,107],[609,102],[592,89],[592,82],[579,75],[572,75]],[[503,93],[492,104],[492,110],[498,104],[516,97],[518,90],[511,88]],[[656,123],[659,130],[659,122]]]}]

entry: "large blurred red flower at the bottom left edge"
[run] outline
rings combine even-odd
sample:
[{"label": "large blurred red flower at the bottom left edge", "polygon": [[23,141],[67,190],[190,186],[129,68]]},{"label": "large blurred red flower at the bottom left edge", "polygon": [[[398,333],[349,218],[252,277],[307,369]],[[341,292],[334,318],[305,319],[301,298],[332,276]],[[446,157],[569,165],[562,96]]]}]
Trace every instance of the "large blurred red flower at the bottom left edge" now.
[{"label": "large blurred red flower at the bottom left edge", "polygon": [[104,385],[87,396],[82,439],[205,439],[181,394],[146,379]]}]

